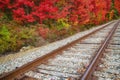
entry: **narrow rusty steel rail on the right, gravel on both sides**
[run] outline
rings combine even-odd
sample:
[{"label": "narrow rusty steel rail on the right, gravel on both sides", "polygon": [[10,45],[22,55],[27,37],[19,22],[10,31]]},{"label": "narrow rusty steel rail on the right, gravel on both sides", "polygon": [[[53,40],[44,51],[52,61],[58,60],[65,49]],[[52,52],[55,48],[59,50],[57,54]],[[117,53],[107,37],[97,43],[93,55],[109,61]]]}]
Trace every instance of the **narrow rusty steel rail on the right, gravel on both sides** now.
[{"label": "narrow rusty steel rail on the right, gravel on both sides", "polygon": [[110,39],[112,38],[115,30],[117,29],[118,25],[119,25],[118,21],[114,27],[112,28],[112,31],[109,33],[109,35],[106,37],[105,41],[103,42],[103,44],[101,44],[101,46],[99,47],[98,51],[96,52],[95,57],[93,58],[93,60],[91,61],[91,63],[89,64],[87,70],[85,71],[85,73],[83,74],[81,80],[93,80],[92,77],[92,73],[95,70],[95,67],[97,66],[97,64],[100,61],[100,58],[102,57],[102,53],[104,52],[105,48],[108,46],[108,43],[110,41]]}]

